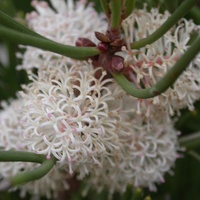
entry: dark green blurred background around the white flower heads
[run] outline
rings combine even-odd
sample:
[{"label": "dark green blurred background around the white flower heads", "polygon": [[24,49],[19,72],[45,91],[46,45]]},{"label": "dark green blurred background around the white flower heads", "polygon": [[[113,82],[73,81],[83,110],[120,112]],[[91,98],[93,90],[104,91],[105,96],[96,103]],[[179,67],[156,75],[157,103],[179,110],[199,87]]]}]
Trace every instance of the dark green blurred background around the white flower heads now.
[{"label": "dark green blurred background around the white flower heads", "polygon": [[[47,1],[48,2],[48,1]],[[101,12],[99,0],[93,0],[95,8]],[[137,1],[137,7],[141,7],[143,3],[148,3],[149,8],[160,5],[161,12],[165,10],[165,5],[162,0],[146,0]],[[179,0],[181,3],[182,0]],[[0,10],[12,16],[19,22],[23,22],[23,17],[27,12],[33,10],[30,5],[31,1],[27,0],[0,0]],[[197,4],[195,11],[198,12],[200,2]],[[200,10],[199,10],[200,13]],[[196,23],[200,24],[200,18],[195,17],[194,12],[189,12],[187,18],[192,18]],[[9,41],[3,41],[0,37],[0,105],[2,101],[10,98],[16,98],[16,92],[20,90],[20,85],[28,83],[26,72],[16,70],[16,66],[20,60],[16,58],[16,52],[21,51],[17,45]],[[200,131],[200,101],[196,102],[193,112],[187,109],[182,110],[182,115],[176,124],[176,128],[182,132],[182,135],[188,135],[193,132]],[[194,149],[200,153],[200,147]],[[173,169],[174,175],[166,175],[166,181],[162,185],[158,185],[156,193],[150,193],[144,190],[144,196],[150,195],[152,200],[199,200],[200,199],[200,160],[195,159],[188,153],[183,153],[183,157],[178,159]],[[84,183],[83,183],[84,184]],[[80,190],[80,188],[79,188]],[[69,199],[84,199],[84,200],[103,200],[106,199],[107,192],[97,194],[95,191],[90,191],[89,195],[82,198],[80,192],[76,188],[76,192],[72,191]],[[75,194],[74,194],[75,193]],[[120,197],[115,194],[113,199],[131,199],[132,191],[127,189],[126,194]],[[18,200],[20,199],[18,192],[15,193],[0,193],[0,200]],[[31,199],[27,196],[25,200]],[[45,198],[43,198],[45,200]]]}]

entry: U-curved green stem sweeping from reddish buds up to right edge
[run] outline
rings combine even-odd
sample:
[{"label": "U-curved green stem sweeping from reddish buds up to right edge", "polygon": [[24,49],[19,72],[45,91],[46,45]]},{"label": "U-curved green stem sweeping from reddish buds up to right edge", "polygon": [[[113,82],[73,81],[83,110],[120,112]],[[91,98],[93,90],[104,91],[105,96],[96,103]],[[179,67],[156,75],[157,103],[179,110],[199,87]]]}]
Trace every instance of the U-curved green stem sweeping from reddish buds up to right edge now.
[{"label": "U-curved green stem sweeping from reddish buds up to right edge", "polygon": [[165,92],[174,84],[177,78],[187,68],[191,60],[198,54],[199,51],[200,36],[193,42],[192,46],[184,53],[184,55],[176,62],[168,73],[150,88],[137,89],[123,74],[113,73],[112,75],[122,89],[124,89],[131,96],[143,99],[155,97]]}]

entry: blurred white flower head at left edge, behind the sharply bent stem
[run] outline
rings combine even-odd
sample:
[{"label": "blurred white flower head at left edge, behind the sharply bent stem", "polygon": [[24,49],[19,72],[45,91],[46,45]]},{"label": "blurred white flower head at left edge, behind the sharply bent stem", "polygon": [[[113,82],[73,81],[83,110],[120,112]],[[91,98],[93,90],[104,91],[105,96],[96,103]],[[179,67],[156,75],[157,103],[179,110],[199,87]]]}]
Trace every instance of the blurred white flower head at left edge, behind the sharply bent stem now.
[{"label": "blurred white flower head at left edge, behind the sharply bent stem", "polygon": [[[23,138],[24,128],[21,119],[24,115],[24,102],[21,98],[12,100],[10,105],[3,103],[0,112],[0,148],[4,150],[29,151]],[[31,171],[40,164],[27,162],[0,162],[0,183],[22,171]],[[67,174],[57,166],[43,178],[32,181],[11,190],[20,189],[20,196],[27,193],[35,197],[45,196],[48,199],[56,197],[58,191],[68,189]]]}]

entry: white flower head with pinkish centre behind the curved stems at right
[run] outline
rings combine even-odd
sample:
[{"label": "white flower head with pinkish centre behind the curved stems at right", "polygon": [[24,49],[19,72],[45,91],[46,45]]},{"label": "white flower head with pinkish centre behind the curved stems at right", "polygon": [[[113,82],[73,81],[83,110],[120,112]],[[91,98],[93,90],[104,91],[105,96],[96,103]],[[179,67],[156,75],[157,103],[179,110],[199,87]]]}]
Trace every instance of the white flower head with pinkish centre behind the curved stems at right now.
[{"label": "white flower head with pinkish centre behind the curved stems at right", "polygon": [[[135,10],[123,22],[128,43],[127,48],[122,48],[125,65],[129,68],[127,76],[137,88],[149,88],[157,83],[188,49],[191,34],[200,32],[200,26],[181,19],[177,27],[171,28],[156,42],[139,50],[130,49],[130,42],[138,41],[156,31],[169,15],[169,12],[160,14],[157,8],[150,12],[146,9]],[[157,97],[138,100],[138,107],[147,104],[161,105],[167,108],[170,115],[174,115],[178,109],[184,107],[192,110],[193,103],[200,98],[199,72],[200,54],[190,63],[173,87]]]}]

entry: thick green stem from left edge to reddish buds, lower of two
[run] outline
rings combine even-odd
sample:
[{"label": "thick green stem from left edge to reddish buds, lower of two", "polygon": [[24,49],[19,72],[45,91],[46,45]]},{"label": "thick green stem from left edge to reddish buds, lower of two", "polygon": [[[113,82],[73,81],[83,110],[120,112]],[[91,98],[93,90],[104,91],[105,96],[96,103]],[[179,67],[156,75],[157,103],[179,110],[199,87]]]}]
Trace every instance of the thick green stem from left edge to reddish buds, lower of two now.
[{"label": "thick green stem from left edge to reddish buds, lower of two", "polygon": [[41,48],[43,50],[52,51],[75,59],[85,59],[100,53],[96,47],[73,47],[63,45],[52,40],[46,40],[43,38],[20,33],[4,26],[0,26],[0,37],[17,44]]}]

